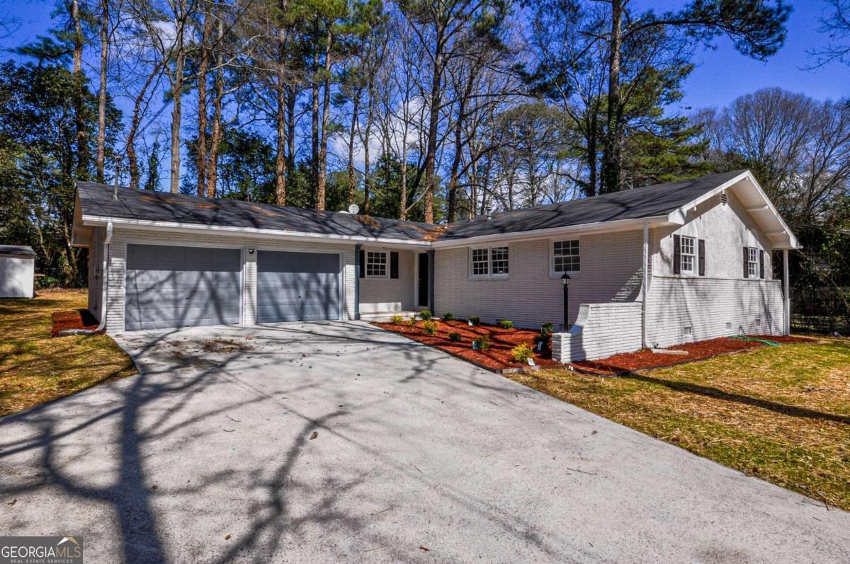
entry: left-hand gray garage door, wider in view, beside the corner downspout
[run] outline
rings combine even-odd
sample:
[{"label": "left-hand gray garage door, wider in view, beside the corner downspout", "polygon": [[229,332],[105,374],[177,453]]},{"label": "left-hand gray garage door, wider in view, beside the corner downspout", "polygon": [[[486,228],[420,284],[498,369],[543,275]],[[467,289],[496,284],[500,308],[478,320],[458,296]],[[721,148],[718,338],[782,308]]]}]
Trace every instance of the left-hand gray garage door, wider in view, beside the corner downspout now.
[{"label": "left-hand gray garage door, wider in view, beside the corner downspout", "polygon": [[238,249],[127,245],[124,328],[238,324]]}]

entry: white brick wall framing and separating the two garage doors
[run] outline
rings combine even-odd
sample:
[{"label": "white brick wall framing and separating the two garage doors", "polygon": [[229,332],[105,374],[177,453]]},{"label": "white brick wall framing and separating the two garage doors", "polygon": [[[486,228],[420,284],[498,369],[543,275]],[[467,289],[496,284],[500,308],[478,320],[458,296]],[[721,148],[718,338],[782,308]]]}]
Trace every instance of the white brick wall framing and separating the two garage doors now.
[{"label": "white brick wall framing and separating the two garage doors", "polygon": [[112,234],[109,260],[109,289],[107,291],[106,330],[119,333],[124,330],[124,273],[127,242],[162,245],[221,245],[229,248],[242,248],[243,257],[243,306],[244,324],[253,324],[257,311],[257,256],[248,254],[247,249],[265,249],[269,251],[323,251],[339,252],[343,255],[343,303],[346,319],[354,319],[354,245],[338,243],[323,244],[314,242],[285,242],[229,234],[190,234],[183,232],[161,232],[143,229],[115,228]]}]

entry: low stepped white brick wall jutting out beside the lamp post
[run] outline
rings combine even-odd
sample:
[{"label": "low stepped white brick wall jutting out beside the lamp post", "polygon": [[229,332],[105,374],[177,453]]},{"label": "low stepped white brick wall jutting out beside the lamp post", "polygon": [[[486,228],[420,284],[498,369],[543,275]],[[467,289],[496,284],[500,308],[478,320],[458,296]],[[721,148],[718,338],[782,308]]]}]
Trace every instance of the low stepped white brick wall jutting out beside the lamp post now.
[{"label": "low stepped white brick wall jutting out beside the lamp post", "polygon": [[596,360],[641,348],[641,302],[583,303],[569,333],[552,336],[552,358],[561,363]]}]

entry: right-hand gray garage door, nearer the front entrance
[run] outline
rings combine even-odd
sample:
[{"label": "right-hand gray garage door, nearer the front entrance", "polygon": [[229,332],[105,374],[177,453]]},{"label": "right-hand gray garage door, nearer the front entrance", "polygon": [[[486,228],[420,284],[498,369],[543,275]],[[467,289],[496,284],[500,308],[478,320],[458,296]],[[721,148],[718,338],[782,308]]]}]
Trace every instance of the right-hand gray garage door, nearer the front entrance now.
[{"label": "right-hand gray garage door, nearer the front entrance", "polygon": [[257,321],[340,318],[339,255],[258,251]]}]

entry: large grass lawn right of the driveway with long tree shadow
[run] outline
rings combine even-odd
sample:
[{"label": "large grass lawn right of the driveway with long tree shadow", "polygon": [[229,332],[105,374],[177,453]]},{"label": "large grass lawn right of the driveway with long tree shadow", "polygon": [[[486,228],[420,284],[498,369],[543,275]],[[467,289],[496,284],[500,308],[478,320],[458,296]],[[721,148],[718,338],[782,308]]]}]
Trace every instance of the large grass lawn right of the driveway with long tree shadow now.
[{"label": "large grass lawn right of the driveway with long tree shadow", "polygon": [[850,510],[850,340],[599,377],[507,375],[694,454]]}]

